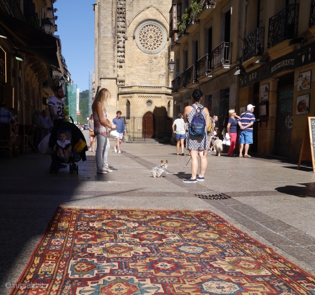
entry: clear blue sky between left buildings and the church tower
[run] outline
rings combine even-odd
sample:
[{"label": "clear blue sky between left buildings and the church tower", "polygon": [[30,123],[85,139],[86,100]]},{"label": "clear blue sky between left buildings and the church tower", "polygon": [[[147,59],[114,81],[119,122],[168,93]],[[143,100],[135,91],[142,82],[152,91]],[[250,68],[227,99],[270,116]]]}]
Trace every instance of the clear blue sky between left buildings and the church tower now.
[{"label": "clear blue sky between left buildings and the church tower", "polygon": [[80,92],[89,89],[89,70],[94,70],[94,11],[96,0],[59,0],[56,24],[63,57]]}]

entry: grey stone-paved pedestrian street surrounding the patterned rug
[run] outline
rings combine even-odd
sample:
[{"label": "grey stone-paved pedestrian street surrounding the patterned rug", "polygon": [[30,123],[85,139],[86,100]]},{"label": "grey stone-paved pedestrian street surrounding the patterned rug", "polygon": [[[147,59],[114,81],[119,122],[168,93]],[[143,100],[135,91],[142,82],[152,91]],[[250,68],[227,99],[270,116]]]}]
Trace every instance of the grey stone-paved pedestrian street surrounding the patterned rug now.
[{"label": "grey stone-paved pedestrian street surrounding the patterned rug", "polygon": [[[60,205],[210,210],[315,274],[315,174],[308,167],[210,153],[205,182],[185,184],[190,163],[183,172],[163,173],[160,179],[149,170],[167,160],[167,172],[175,173],[188,162],[187,151],[182,157],[171,145],[123,143],[117,154],[114,145],[111,140],[114,171],[108,174],[96,174],[92,152],[87,152],[88,161],[78,163],[79,174],[65,168],[50,174],[50,157],[39,154],[1,159],[1,295],[10,291],[5,283],[14,284],[21,275]],[[228,198],[207,199],[216,193]]]}]

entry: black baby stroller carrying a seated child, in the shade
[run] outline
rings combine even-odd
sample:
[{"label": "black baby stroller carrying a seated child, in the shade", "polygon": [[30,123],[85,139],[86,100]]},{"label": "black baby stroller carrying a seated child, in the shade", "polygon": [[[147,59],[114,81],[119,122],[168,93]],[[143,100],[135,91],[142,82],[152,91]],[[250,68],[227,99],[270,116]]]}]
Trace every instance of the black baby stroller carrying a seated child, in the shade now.
[{"label": "black baby stroller carrying a seated child, in the shade", "polygon": [[[72,119],[72,118],[71,118]],[[49,146],[54,147],[57,140],[60,138],[61,134],[65,134],[65,139],[69,142],[68,145],[71,146],[71,149],[68,151],[68,162],[65,163],[65,158],[61,157],[58,153],[58,147],[54,152],[52,157],[52,163],[50,164],[50,173],[58,173],[59,166],[61,163],[69,164],[69,173],[79,173],[79,161],[86,161],[85,152],[88,150],[86,146],[86,141],[84,139],[82,132],[74,125],[69,122],[62,122],[55,126],[51,132],[49,139]],[[63,135],[64,137],[64,135]],[[79,144],[78,144],[79,143]],[[84,145],[84,148],[80,148],[80,152],[76,150],[76,147],[79,149],[80,144]]]}]

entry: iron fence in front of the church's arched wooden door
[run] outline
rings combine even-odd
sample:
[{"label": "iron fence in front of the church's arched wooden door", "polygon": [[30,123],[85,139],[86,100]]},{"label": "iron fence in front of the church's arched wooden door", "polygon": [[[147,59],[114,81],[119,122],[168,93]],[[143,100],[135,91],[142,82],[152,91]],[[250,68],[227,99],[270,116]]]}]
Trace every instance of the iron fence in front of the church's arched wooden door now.
[{"label": "iron fence in front of the church's arched wooden door", "polygon": [[[149,114],[149,115],[147,115]],[[147,113],[143,117],[123,117],[129,141],[157,141],[169,143],[172,137],[173,119]]]}]

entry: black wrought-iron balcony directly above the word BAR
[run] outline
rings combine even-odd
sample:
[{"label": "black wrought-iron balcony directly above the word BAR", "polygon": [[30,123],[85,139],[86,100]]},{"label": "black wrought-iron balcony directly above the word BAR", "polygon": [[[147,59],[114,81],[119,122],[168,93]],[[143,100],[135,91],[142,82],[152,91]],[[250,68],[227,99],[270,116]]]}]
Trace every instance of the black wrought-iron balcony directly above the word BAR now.
[{"label": "black wrought-iron balcony directly above the word BAR", "polygon": [[262,55],[264,52],[265,28],[257,28],[244,39],[243,61]]}]

